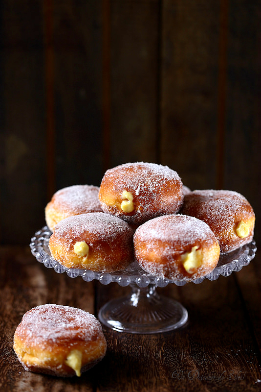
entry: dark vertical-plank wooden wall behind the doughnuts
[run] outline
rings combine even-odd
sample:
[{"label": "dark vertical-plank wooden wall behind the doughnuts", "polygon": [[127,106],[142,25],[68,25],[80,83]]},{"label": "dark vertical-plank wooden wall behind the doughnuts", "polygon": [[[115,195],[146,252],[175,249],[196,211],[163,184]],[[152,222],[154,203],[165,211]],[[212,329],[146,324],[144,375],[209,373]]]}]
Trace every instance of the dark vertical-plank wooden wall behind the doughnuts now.
[{"label": "dark vertical-plank wooden wall behind the doughnuts", "polygon": [[236,190],[260,220],[260,1],[0,4],[2,244],[27,245],[56,190],[130,161]]}]

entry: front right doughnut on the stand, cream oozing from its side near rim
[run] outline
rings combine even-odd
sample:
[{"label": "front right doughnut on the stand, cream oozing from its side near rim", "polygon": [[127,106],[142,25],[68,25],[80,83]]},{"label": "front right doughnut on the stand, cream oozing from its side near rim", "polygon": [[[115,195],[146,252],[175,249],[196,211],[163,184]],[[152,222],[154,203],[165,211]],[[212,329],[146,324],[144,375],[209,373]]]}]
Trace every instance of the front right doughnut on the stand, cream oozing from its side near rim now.
[{"label": "front right doughnut on the stand, cream oozing from its side near rim", "polygon": [[218,264],[218,241],[203,221],[185,215],[165,215],[143,223],[134,234],[138,264],[148,273],[190,281]]}]

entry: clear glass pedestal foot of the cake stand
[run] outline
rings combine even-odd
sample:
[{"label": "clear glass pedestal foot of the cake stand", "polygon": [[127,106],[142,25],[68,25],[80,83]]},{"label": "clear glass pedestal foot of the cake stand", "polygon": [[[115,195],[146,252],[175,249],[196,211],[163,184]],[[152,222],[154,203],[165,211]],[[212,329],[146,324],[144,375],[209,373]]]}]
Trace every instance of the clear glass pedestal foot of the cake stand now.
[{"label": "clear glass pedestal foot of the cake stand", "polygon": [[130,286],[132,294],[112,299],[100,309],[98,318],[107,327],[118,332],[155,334],[187,322],[187,310],[178,301],[159,295],[155,285]]}]

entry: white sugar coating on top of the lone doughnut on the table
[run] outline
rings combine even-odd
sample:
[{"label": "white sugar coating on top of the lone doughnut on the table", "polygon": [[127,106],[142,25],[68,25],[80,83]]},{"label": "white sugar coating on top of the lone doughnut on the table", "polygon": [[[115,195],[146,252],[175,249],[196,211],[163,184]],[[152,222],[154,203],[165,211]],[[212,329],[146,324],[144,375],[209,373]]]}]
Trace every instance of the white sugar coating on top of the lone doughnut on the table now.
[{"label": "white sugar coating on top of the lone doughnut on the table", "polygon": [[103,336],[100,322],[88,312],[70,306],[45,304],[26,312],[16,334],[25,345],[50,346],[89,342]]}]

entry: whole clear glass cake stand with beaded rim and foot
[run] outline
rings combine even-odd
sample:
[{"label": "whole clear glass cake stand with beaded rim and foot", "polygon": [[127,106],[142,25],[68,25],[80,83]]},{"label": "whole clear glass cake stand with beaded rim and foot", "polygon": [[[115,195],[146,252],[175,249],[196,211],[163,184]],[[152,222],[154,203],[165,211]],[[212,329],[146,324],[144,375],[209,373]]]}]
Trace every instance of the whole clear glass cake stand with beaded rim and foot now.
[{"label": "whole clear glass cake stand with beaded rim and foot", "polygon": [[[111,282],[117,282],[122,287],[130,285],[131,294],[110,300],[98,313],[100,321],[109,328],[119,332],[153,334],[179,328],[187,322],[187,310],[173,298],[159,295],[156,288],[166,287],[170,283],[184,286],[188,280],[170,280],[149,275],[136,261],[125,270],[113,273],[66,268],[50,255],[48,243],[51,234],[47,226],[44,226],[35,233],[30,243],[32,254],[46,268],[53,268],[57,273],[66,272],[71,278],[81,276],[86,282],[97,279],[104,285]],[[233,252],[221,254],[213,271],[192,282],[198,284],[204,279],[216,280],[220,275],[229,276],[233,271],[247,266],[255,257],[256,250],[256,243],[252,241]]]}]

